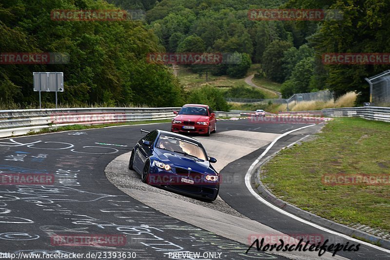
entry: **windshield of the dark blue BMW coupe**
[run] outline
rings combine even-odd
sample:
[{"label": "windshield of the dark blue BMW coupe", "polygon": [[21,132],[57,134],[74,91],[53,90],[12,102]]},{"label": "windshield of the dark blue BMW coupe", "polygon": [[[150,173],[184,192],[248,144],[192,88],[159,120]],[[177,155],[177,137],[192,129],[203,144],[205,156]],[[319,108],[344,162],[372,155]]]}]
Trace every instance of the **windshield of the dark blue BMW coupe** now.
[{"label": "windshield of the dark blue BMW coupe", "polygon": [[188,154],[200,160],[206,160],[206,154],[202,147],[200,147],[194,142],[180,139],[177,137],[160,135],[160,137],[157,140],[156,147],[171,152]]}]

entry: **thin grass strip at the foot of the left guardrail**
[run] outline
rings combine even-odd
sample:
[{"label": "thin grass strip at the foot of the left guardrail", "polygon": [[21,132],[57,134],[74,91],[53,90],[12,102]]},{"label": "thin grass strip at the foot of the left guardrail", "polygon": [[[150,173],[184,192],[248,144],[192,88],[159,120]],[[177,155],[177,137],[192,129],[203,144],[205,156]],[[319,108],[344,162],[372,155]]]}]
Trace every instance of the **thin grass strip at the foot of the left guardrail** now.
[{"label": "thin grass strip at the foot of the left guardrail", "polygon": [[26,135],[37,135],[37,134],[46,134],[46,133],[55,133],[61,131],[73,131],[73,130],[84,130],[84,129],[93,129],[93,128],[104,128],[108,126],[116,126],[116,125],[134,125],[134,124],[150,124],[150,123],[170,123],[172,120],[147,120],[147,121],[133,121],[133,122],[123,122],[123,123],[110,123],[110,124],[93,124],[93,125],[81,125],[81,124],[73,124],[73,125],[65,125],[59,126],[56,128],[44,128],[37,132],[30,131]]}]

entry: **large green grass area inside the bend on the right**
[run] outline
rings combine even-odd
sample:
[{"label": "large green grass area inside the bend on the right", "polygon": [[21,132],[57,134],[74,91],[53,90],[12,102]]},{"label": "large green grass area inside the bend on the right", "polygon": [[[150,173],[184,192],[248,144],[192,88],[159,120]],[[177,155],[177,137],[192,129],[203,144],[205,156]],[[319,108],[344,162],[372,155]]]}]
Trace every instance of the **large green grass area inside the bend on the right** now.
[{"label": "large green grass area inside the bend on the right", "polygon": [[335,118],[316,139],[281,151],[262,167],[273,194],[339,223],[390,231],[390,185],[323,185],[324,174],[389,174],[390,123]]}]

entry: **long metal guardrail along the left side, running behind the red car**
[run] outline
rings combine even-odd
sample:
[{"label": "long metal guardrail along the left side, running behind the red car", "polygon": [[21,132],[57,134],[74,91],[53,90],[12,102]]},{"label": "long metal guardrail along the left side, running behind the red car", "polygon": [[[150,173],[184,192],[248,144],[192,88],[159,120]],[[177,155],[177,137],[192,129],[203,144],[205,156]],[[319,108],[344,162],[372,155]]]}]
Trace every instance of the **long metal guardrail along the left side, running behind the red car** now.
[{"label": "long metal guardrail along the left side, running behind the red car", "polygon": [[[0,138],[24,135],[43,128],[73,124],[104,124],[175,117],[180,107],[164,108],[65,108],[0,110]],[[215,111],[216,117],[239,117],[239,112]]]}]

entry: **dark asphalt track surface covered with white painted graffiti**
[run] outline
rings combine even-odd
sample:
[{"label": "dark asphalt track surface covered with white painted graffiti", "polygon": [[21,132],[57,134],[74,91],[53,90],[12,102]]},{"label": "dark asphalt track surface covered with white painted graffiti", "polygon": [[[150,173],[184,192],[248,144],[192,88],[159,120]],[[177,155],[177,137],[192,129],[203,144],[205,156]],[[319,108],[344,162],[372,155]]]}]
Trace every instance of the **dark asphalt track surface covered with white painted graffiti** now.
[{"label": "dark asphalt track surface covered with white painted graffiti", "polygon": [[[218,121],[218,132],[242,130],[282,134],[304,124],[250,124],[248,120]],[[200,252],[201,259],[286,259],[252,249],[247,244],[164,215],[119,191],[104,175],[106,165],[130,152],[146,130],[169,130],[170,124],[122,126],[72,131],[0,140],[0,174],[52,176],[50,185],[0,186],[0,252],[83,253],[62,259],[176,259],[174,252]],[[313,127],[314,128],[314,127]],[[317,126],[315,128],[318,129]],[[211,136],[212,138],[213,136]],[[276,143],[276,151],[300,135],[289,135]],[[227,165],[221,175],[241,174],[264,151],[261,147]],[[217,158],[218,159],[218,158]],[[321,234],[331,241],[347,242],[292,220],[256,200],[244,181],[221,185],[220,197],[239,213],[286,234]],[[185,214],[185,212],[183,212]],[[205,216],[207,218],[207,216]],[[202,220],[199,220],[202,221]],[[81,245],[77,237],[105,236],[107,244]],[[59,240],[67,238],[69,243]],[[350,241],[350,244],[356,243]],[[114,253],[117,256],[114,257]],[[220,253],[220,255],[218,254]],[[361,246],[358,252],[339,252],[348,259],[389,258],[383,251]],[[40,255],[40,259],[44,259]],[[52,257],[51,259],[58,259]],[[177,258],[178,259],[178,258]]]}]

